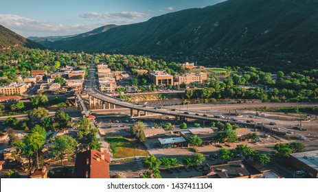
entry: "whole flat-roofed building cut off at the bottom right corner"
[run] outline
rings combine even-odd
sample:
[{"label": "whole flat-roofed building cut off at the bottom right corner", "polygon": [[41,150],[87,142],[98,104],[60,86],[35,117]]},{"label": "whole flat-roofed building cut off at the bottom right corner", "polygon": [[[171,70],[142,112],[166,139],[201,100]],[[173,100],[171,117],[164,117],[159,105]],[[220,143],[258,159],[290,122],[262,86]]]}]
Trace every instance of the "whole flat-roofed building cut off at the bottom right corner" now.
[{"label": "whole flat-roofed building cut off at the bottom right corner", "polygon": [[318,150],[291,154],[291,163],[312,178],[318,178]]}]

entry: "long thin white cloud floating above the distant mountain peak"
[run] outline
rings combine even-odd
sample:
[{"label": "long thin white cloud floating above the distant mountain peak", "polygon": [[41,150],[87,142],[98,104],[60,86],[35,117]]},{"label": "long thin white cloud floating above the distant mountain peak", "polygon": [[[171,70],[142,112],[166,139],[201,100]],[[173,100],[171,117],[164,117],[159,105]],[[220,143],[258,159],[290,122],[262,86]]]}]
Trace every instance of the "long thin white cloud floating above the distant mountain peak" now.
[{"label": "long thin white cloud floating above the distant mountain peak", "polygon": [[148,14],[142,13],[142,12],[114,12],[114,13],[97,13],[97,12],[90,12],[90,13],[84,13],[80,14],[79,16],[84,19],[136,19],[136,18],[142,18],[144,16],[147,16]]}]

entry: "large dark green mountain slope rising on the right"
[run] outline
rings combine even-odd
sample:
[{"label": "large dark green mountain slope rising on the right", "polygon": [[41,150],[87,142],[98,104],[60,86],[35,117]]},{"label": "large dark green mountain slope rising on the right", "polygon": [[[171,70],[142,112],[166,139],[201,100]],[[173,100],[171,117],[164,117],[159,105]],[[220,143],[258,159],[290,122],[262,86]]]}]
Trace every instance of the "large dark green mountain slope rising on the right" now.
[{"label": "large dark green mountain slope rising on the right", "polygon": [[317,51],[318,1],[229,0],[55,41],[50,47],[130,53],[186,53],[213,47]]}]

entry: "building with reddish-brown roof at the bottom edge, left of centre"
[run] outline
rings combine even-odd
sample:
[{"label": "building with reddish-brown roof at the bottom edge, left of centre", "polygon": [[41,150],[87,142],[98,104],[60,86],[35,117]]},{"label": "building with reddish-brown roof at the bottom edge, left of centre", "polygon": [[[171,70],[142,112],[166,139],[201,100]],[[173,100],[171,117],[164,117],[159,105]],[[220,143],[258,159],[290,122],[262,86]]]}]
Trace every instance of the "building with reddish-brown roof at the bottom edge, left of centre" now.
[{"label": "building with reddish-brown roof at the bottom edge, left of centre", "polygon": [[104,148],[88,149],[76,154],[73,178],[110,178],[109,154],[104,152]]}]

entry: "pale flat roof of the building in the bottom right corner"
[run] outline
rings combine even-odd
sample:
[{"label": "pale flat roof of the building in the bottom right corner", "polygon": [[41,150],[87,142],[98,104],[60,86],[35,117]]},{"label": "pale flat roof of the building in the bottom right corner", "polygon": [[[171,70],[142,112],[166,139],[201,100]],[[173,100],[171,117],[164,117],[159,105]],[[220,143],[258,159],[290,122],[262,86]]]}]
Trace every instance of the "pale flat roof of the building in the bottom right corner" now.
[{"label": "pale flat roof of the building in the bottom right corner", "polygon": [[318,171],[318,150],[295,153],[291,154],[291,156],[297,158],[297,160],[302,161],[302,163],[306,163],[306,165]]}]

